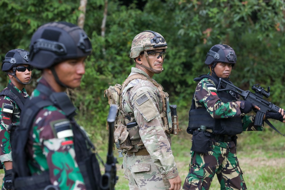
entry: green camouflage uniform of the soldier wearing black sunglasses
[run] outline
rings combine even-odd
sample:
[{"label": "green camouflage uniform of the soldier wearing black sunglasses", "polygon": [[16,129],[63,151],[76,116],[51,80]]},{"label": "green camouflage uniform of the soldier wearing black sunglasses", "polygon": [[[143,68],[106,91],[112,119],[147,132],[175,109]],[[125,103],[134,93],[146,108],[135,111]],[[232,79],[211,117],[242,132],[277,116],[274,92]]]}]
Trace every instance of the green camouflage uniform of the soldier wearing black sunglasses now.
[{"label": "green camouflage uniform of the soldier wearing black sunglasses", "polygon": [[[29,97],[25,88],[19,90],[11,81],[11,84],[24,98]],[[3,91],[10,90],[6,87]],[[0,130],[0,139],[1,139],[1,151],[0,151],[0,161],[4,167],[3,162],[12,162],[12,153],[11,153],[11,143],[10,143],[10,131],[8,127],[10,124],[18,124],[20,121],[21,109],[18,105],[10,99],[8,96],[0,96],[0,118],[1,118],[1,130]],[[4,181],[4,178],[3,178]],[[2,183],[2,189],[3,187]]]}]

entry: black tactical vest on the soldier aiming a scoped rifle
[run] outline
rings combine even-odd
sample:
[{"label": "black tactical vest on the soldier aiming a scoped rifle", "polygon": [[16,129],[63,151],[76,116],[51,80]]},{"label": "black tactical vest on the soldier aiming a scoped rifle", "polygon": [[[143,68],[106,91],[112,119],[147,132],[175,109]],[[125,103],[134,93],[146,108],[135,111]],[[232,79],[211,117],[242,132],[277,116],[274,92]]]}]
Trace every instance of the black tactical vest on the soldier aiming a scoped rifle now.
[{"label": "black tactical vest on the soldier aiming a scoped rifle", "polygon": [[[201,81],[203,78],[208,78],[214,81],[216,87],[218,86],[217,80],[211,75],[201,75],[198,78],[195,78],[194,81]],[[236,96],[235,92],[220,91],[218,96],[223,103],[228,103],[230,101],[235,101]],[[194,93],[195,94],[195,93]],[[241,117],[231,117],[223,119],[214,119],[208,112],[206,108],[195,107],[194,94],[192,98],[192,105],[189,111],[189,123],[187,132],[193,134],[193,131],[200,128],[201,125],[207,127],[207,129],[213,130],[213,134],[219,135],[236,135],[240,134],[243,131]]]}]

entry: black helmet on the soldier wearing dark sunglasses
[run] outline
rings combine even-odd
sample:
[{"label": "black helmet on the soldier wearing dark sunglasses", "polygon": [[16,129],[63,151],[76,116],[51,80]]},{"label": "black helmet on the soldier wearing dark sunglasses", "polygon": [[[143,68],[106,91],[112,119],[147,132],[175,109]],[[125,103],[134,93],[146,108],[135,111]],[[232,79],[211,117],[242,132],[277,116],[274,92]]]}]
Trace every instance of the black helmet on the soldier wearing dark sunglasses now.
[{"label": "black helmet on the soldier wearing dark sunglasses", "polygon": [[9,71],[19,65],[30,65],[29,52],[23,49],[10,50],[2,61],[2,71]]}]

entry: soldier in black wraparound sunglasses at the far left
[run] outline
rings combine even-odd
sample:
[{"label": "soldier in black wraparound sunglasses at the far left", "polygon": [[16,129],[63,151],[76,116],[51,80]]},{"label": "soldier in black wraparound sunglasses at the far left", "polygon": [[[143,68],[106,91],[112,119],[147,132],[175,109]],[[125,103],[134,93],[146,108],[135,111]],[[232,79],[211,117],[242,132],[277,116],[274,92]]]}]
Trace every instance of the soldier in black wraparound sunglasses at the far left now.
[{"label": "soldier in black wraparound sunglasses at the far left", "polygon": [[5,170],[2,189],[12,189],[12,134],[9,125],[19,123],[21,110],[29,97],[24,86],[30,83],[32,66],[28,63],[29,52],[23,49],[9,51],[3,62],[2,71],[9,76],[8,86],[0,93],[1,151],[0,160]]}]

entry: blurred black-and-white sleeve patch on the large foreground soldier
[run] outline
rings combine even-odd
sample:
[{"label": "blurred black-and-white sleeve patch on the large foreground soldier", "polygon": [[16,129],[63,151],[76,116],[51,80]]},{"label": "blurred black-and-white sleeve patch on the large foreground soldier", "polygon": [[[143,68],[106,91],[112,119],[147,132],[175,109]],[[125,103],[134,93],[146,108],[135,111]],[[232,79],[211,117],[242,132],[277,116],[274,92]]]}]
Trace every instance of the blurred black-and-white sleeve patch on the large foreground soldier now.
[{"label": "blurred black-and-white sleeve patch on the large foreground soldier", "polygon": [[70,120],[59,119],[50,122],[50,126],[54,129],[54,134],[57,138],[72,137],[73,132],[71,128]]}]

